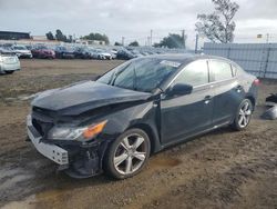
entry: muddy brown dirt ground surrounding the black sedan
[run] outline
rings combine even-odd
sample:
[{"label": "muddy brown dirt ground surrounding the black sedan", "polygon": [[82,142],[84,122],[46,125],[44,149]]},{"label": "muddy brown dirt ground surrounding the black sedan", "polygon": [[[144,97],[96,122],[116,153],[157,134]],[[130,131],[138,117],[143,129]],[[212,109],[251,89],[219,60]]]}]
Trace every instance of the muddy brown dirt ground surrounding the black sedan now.
[{"label": "muddy brown dirt ground surrounding the black sedan", "polygon": [[22,60],[0,76],[0,207],[3,208],[277,208],[277,121],[259,119],[277,92],[264,81],[246,131],[224,128],[154,155],[142,173],[114,181],[76,180],[25,142],[25,96],[105,72],[120,61]]}]

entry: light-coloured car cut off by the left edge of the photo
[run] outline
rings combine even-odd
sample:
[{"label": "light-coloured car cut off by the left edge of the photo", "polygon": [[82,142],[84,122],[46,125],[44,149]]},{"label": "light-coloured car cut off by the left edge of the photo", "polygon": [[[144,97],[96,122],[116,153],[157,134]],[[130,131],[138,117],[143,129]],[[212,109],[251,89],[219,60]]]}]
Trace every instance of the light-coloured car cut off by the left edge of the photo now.
[{"label": "light-coloured car cut off by the left edge of the photo", "polygon": [[17,54],[9,49],[0,48],[0,73],[11,74],[20,69]]}]

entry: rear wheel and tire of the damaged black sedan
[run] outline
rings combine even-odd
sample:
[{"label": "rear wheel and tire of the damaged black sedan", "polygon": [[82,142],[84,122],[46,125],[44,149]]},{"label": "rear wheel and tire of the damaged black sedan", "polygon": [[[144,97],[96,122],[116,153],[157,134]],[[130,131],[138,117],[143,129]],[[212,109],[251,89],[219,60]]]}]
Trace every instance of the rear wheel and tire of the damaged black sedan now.
[{"label": "rear wheel and tire of the damaged black sedan", "polygon": [[234,130],[242,131],[248,127],[253,116],[253,103],[249,99],[244,99],[239,104],[235,120],[232,125]]}]

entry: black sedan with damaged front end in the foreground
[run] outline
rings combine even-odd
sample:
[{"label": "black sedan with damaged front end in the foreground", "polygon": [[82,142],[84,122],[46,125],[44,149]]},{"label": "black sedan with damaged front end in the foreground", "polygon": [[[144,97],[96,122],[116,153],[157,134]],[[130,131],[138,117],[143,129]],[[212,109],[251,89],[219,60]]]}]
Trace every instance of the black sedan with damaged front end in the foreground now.
[{"label": "black sedan with damaged front end in the foreground", "polygon": [[124,179],[166,147],[224,126],[245,129],[258,84],[218,57],[137,58],[96,81],[39,94],[28,116],[28,136],[72,177],[105,171]]}]

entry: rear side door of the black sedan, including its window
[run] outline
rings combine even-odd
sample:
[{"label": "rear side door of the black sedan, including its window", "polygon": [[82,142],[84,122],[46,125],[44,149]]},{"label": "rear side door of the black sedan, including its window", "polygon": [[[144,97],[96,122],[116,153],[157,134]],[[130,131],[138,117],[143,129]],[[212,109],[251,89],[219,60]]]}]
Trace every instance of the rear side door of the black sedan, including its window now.
[{"label": "rear side door of the black sedan, including its window", "polygon": [[212,59],[208,61],[214,97],[214,126],[230,122],[243,99],[243,88],[239,86],[232,66],[227,61]]}]

